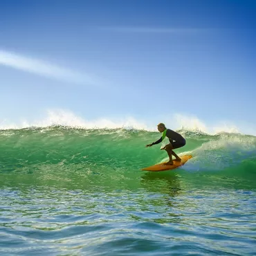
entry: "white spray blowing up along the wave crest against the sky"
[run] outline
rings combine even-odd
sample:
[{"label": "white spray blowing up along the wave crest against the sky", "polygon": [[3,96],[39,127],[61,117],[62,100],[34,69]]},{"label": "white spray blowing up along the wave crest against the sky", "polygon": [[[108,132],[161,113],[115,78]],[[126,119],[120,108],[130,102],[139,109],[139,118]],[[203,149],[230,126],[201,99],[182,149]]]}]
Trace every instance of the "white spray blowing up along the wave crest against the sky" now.
[{"label": "white spray blowing up along the wave crest against the sky", "polygon": [[[217,122],[214,125],[206,125],[205,122],[196,116],[188,116],[176,113],[173,116],[165,116],[161,119],[152,120],[136,120],[131,116],[122,118],[97,118],[94,120],[86,120],[75,113],[65,109],[49,109],[44,116],[38,120],[22,120],[19,123],[8,122],[3,120],[0,123],[0,129],[21,129],[28,127],[50,127],[50,126],[68,126],[83,129],[138,129],[146,131],[157,131],[158,122],[164,122],[166,127],[170,129],[185,129],[188,131],[202,131],[206,134],[217,134],[219,132],[228,133],[246,133],[246,128],[241,130],[231,122]],[[248,127],[248,125],[246,126]],[[250,126],[250,134],[256,135],[256,130]]]}]

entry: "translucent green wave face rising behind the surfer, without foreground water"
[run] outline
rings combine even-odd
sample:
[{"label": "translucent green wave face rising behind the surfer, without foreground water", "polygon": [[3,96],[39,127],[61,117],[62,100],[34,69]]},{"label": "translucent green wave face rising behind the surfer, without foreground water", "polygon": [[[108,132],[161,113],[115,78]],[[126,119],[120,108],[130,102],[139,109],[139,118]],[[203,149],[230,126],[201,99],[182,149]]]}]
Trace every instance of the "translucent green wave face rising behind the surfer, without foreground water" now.
[{"label": "translucent green wave face rising behind the surfer, without foreground water", "polygon": [[[180,131],[185,147],[177,154],[192,154],[184,166],[188,171],[251,169],[255,167],[256,137],[241,134],[208,134]],[[145,148],[160,133],[127,129],[42,129],[5,130],[0,133],[1,172],[35,172],[42,166],[63,170],[140,170],[167,159],[161,144]],[[165,139],[167,141],[167,139]],[[248,170],[249,172],[250,170]]]}]

